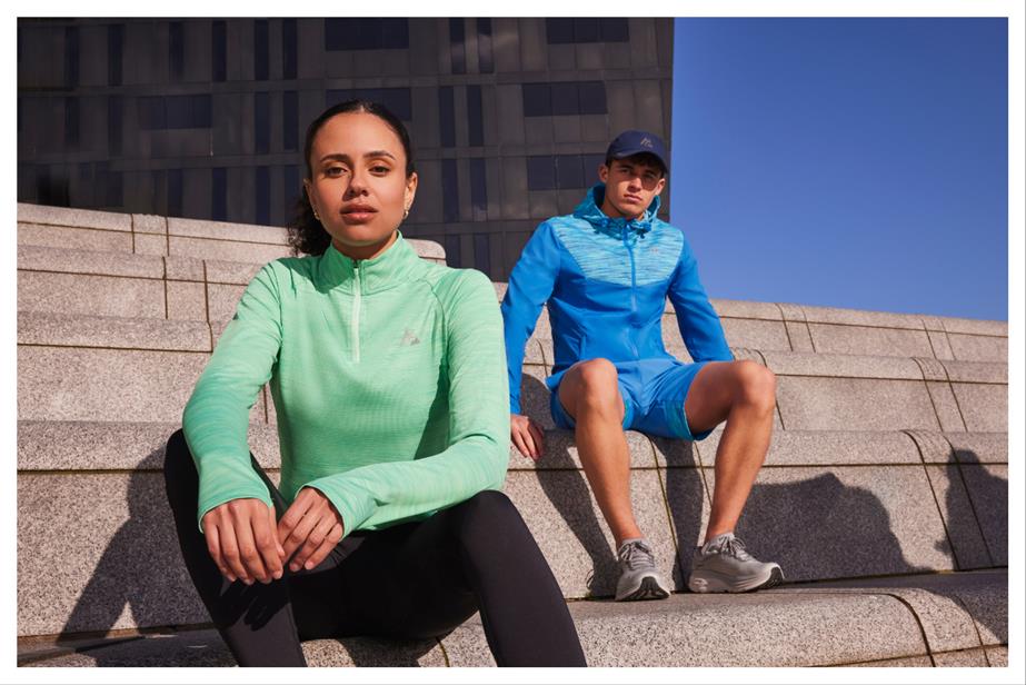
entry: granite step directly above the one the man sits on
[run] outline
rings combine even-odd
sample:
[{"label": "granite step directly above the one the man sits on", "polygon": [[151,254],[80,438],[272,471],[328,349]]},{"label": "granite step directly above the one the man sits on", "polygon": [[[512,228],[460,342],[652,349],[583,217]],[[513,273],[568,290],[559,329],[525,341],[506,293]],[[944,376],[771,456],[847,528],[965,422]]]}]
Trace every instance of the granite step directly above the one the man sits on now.
[{"label": "granite step directly above the one the man sits on", "polygon": [[[173,421],[223,322],[20,311],[19,418]],[[777,426],[797,430],[1002,433],[1007,365],[735,349],[778,378]],[[546,427],[549,353],[529,346],[521,397]],[[273,423],[266,398],[256,416]]]}]

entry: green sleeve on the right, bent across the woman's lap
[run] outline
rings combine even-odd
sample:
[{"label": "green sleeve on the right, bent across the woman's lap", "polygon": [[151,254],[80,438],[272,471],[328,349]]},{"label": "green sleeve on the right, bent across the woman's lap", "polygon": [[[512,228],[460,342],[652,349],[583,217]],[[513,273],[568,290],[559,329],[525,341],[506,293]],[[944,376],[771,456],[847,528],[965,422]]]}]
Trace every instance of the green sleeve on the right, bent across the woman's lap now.
[{"label": "green sleeve on the right, bent across the woman's lap", "polygon": [[495,289],[464,270],[439,295],[446,309],[449,441],[437,454],[386,461],[307,484],[335,505],[346,535],[431,514],[486,489],[500,489],[509,460],[502,319]]}]

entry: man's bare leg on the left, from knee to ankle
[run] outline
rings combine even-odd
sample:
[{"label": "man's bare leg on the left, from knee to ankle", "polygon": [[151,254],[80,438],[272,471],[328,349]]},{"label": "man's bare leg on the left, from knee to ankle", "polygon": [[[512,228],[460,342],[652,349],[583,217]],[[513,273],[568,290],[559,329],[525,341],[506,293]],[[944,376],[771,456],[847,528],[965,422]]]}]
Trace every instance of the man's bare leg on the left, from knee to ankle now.
[{"label": "man's bare leg on the left, from knee to ankle", "polygon": [[576,423],[577,454],[617,548],[641,537],[630,506],[630,451],[616,367],[606,359],[578,361],[559,383],[559,401]]}]

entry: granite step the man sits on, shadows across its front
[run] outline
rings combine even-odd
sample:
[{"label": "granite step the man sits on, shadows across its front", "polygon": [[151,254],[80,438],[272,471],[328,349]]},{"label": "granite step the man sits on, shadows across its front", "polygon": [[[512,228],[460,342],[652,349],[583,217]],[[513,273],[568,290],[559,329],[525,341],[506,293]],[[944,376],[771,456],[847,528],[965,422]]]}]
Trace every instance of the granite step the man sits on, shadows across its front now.
[{"label": "granite step the man sits on, shadows across its front", "polygon": [[[160,474],[165,441],[177,427],[19,423],[19,548],[43,552],[19,555],[19,634],[206,621],[179,557]],[[683,589],[708,519],[715,448],[628,436],[639,525],[661,572]],[[779,562],[791,582],[1006,565],[1006,437],[779,431],[738,535],[757,556]],[[564,595],[609,596],[614,540],[571,435],[549,431],[546,444],[537,464],[511,450],[505,490]],[[276,480],[275,428],[251,425],[250,445]],[[52,547],[76,564],[52,569],[46,554]],[[48,583],[38,585],[43,575]],[[165,588],[160,599],[155,587]]]}]

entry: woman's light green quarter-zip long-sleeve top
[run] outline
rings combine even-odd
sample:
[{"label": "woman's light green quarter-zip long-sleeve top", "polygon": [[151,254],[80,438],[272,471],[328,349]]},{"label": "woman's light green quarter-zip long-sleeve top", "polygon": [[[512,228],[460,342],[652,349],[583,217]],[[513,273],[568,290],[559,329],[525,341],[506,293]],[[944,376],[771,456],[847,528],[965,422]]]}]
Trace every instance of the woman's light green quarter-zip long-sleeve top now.
[{"label": "woman's light green quarter-zip long-sleeve top", "polygon": [[282,495],[317,488],[347,535],[502,485],[509,408],[495,289],[480,271],[420,259],[401,235],[375,259],[329,247],[250,281],[182,417],[200,522],[240,497],[271,505],[247,443],[268,380]]}]

